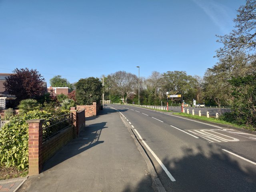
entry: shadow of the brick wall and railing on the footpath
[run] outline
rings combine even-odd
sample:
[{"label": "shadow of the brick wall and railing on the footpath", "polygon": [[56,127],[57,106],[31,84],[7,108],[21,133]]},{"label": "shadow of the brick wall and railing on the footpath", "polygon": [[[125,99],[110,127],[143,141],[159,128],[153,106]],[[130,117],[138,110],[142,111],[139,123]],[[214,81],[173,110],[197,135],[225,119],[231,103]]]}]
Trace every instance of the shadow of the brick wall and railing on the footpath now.
[{"label": "shadow of the brick wall and railing on the footpath", "polygon": [[[89,118],[87,118],[87,120],[88,119]],[[92,120],[95,118],[90,119]],[[106,127],[106,122],[90,124],[83,128],[78,138],[71,140],[66,146],[44,163],[42,171],[46,171],[85,150],[98,144],[102,144],[104,141],[99,141],[99,137],[104,128],[108,128]]]}]

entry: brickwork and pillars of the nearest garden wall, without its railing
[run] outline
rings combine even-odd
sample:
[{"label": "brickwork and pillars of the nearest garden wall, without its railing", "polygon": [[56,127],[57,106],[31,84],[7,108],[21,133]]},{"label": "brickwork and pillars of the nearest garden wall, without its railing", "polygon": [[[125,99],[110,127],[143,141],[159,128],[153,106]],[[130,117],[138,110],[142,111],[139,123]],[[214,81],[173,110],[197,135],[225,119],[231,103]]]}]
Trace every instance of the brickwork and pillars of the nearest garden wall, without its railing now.
[{"label": "brickwork and pillars of the nearest garden wall, without its railing", "polygon": [[[95,104],[96,105],[96,104]],[[28,172],[29,175],[37,175],[42,170],[42,165],[51,158],[62,146],[79,135],[79,132],[85,126],[85,112],[77,112],[76,107],[71,110],[73,117],[73,126],[70,126],[60,133],[56,134],[43,143],[44,120],[28,120]]]}]

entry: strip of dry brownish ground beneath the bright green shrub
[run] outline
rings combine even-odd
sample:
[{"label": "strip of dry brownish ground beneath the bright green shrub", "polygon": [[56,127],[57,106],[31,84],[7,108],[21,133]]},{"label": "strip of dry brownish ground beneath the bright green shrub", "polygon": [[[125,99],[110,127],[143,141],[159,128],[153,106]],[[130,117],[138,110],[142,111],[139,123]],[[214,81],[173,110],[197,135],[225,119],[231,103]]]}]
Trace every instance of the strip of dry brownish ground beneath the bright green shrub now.
[{"label": "strip of dry brownish ground beneath the bright green shrub", "polygon": [[28,169],[18,170],[16,167],[0,167],[0,180],[25,177]]}]

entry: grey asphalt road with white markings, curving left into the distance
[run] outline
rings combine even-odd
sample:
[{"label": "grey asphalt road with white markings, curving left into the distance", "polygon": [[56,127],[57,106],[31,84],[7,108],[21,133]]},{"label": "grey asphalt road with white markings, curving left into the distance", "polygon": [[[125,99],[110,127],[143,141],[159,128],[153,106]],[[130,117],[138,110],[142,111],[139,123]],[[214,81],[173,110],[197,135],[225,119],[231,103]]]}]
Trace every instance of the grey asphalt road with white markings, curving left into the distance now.
[{"label": "grey asphalt road with white markings, curving left into the distance", "polygon": [[122,113],[167,192],[256,191],[256,135],[135,106],[105,107]]}]

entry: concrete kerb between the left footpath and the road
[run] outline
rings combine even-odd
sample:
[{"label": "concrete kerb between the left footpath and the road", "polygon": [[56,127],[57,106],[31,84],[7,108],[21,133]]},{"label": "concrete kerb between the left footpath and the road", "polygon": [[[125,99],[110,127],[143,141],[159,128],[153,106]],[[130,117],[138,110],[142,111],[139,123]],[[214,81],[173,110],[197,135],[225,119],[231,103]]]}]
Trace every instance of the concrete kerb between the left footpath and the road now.
[{"label": "concrete kerb between the left footpath and the road", "polygon": [[[119,113],[120,114],[120,113]],[[162,182],[160,181],[158,174],[156,173],[156,170],[154,169],[154,166],[152,165],[152,162],[150,160],[150,158],[148,157],[148,155],[146,154],[146,150],[144,149],[143,145],[140,143],[140,141],[138,140],[138,138],[136,137],[136,134],[134,134],[133,130],[130,127],[130,124],[127,123],[126,120],[124,120],[124,118],[122,117],[122,115],[120,114],[120,118],[121,120],[124,122],[124,124],[126,125],[128,131],[130,132],[140,154],[142,155],[142,157],[144,158],[147,166],[148,166],[148,172],[151,176],[152,179],[152,188],[154,190],[156,190],[156,192],[166,192]]]}]

